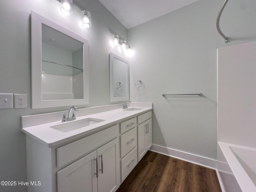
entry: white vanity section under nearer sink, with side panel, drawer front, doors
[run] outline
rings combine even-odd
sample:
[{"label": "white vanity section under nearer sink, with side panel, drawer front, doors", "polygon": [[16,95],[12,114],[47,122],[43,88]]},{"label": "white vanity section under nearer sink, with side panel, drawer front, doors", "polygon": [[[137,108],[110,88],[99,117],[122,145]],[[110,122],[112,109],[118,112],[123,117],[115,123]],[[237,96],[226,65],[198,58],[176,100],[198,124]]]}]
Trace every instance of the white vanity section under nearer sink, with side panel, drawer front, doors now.
[{"label": "white vanity section under nearer sink, with side panel, drawer front, doors", "polygon": [[27,136],[28,192],[114,192],[120,185],[119,125],[52,148]]}]

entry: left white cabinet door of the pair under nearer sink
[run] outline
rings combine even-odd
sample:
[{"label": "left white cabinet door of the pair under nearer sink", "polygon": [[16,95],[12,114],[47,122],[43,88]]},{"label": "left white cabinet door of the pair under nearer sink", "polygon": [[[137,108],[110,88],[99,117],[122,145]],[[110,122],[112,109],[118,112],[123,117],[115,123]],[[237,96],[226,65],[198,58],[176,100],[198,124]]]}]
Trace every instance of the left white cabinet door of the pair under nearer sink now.
[{"label": "left white cabinet door of the pair under nearer sink", "polygon": [[97,192],[96,151],[57,172],[58,192]]}]

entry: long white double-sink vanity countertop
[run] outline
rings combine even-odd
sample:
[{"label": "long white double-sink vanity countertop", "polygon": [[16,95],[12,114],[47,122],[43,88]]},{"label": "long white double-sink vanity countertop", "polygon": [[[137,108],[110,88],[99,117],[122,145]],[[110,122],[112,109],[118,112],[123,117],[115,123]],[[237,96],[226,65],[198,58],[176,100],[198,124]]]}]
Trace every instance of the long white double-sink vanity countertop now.
[{"label": "long white double-sink vanity countertop", "polygon": [[[109,110],[109,111],[104,111],[104,112],[99,112],[94,114],[88,114],[85,116],[79,116],[76,118],[76,120],[69,121],[69,122],[61,122],[61,119],[60,119],[58,121],[48,122],[45,124],[39,124],[35,126],[28,126],[28,127],[23,126],[22,132],[24,132],[28,136],[34,138],[35,140],[44,144],[47,147],[53,147],[58,144],[62,144],[64,142],[67,142],[76,138],[80,138],[82,136],[86,136],[94,132],[98,132],[112,125],[118,124],[124,120],[128,120],[134,116],[137,116],[139,114],[143,114],[145,112],[152,110],[152,104],[151,104],[151,107],[144,107],[144,106],[141,107],[142,109],[138,111],[127,111],[120,108],[120,109]],[[130,106],[129,108],[134,108],[134,106]],[[140,107],[138,107],[137,105],[136,108],[140,108]],[[29,117],[30,116],[26,116],[22,118],[28,119]],[[96,119],[102,119],[104,121],[98,122],[96,124],[92,124],[83,128],[79,128],[76,130],[72,130],[70,132],[61,132],[54,128],[50,128],[50,126],[75,122],[85,118],[96,118]]]}]

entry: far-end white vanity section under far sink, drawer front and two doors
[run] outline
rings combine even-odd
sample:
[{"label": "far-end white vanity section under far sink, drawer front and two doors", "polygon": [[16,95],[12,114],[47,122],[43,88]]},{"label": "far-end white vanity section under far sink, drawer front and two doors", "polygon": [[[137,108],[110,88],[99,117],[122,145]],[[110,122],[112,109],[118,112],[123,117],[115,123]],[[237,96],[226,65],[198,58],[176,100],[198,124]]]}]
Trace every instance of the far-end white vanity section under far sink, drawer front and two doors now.
[{"label": "far-end white vanity section under far sink, drawer front and two doors", "polygon": [[152,146],[152,112],[138,116],[138,161]]}]

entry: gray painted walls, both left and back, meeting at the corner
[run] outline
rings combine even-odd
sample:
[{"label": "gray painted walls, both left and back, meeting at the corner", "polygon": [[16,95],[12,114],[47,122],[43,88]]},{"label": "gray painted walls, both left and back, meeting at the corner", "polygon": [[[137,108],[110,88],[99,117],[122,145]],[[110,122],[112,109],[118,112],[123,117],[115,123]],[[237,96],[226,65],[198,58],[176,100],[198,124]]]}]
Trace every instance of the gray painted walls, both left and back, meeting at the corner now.
[{"label": "gray painted walls, both left and back, meeting at the corner", "polygon": [[[31,109],[30,10],[89,40],[89,105],[110,104],[110,31],[134,45],[130,59],[130,96],[133,102],[153,102],[153,142],[216,159],[216,49],[256,40],[256,2],[232,0],[221,18],[230,43],[216,32],[223,0],[200,0],[160,18],[127,30],[96,0],[77,0],[92,14],[92,28],[77,25],[78,13],[60,14],[56,0],[2,1],[0,6],[0,92],[28,94],[28,108],[0,110],[0,180],[26,181],[26,143],[20,117],[66,110]],[[122,55],[120,55],[122,56]],[[142,79],[141,100],[134,83]],[[95,86],[97,85],[97,86]],[[164,98],[166,93],[202,91],[204,97]],[[25,192],[26,187],[1,191]]]}]

